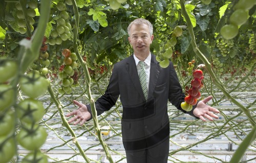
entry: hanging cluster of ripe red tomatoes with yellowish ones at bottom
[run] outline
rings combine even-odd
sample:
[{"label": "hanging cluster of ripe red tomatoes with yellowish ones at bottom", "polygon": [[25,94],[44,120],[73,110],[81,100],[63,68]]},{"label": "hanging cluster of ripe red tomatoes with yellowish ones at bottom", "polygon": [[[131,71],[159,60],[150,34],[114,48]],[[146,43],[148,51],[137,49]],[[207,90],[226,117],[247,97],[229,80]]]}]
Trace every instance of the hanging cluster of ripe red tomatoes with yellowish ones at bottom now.
[{"label": "hanging cluster of ripe red tomatoes with yellowish ones at bottom", "polygon": [[190,111],[193,105],[197,104],[197,99],[201,97],[200,89],[202,87],[203,72],[201,69],[196,69],[193,72],[194,79],[191,81],[191,88],[188,90],[188,96],[185,97],[185,102],[181,103],[181,108]]}]

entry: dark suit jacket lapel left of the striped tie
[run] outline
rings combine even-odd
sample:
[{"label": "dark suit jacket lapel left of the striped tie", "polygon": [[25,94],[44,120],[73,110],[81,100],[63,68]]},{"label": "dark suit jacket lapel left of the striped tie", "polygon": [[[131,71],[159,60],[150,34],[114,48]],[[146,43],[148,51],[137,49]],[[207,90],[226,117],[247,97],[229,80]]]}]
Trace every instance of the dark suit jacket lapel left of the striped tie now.
[{"label": "dark suit jacket lapel left of the striped tie", "polygon": [[143,90],[142,90],[142,87],[141,87],[141,84],[140,84],[140,79],[139,79],[137,67],[136,67],[133,55],[130,56],[129,58],[127,58],[126,69],[127,69],[127,72],[130,75],[130,78],[131,78],[136,90],[139,92],[139,94],[142,97],[144,97]]}]

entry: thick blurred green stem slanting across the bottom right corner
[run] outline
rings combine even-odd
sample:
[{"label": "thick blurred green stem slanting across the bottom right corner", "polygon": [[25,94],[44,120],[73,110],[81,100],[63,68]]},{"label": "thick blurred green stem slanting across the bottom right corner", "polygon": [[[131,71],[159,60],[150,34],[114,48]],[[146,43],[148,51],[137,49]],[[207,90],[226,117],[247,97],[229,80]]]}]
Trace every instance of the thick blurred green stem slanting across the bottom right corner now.
[{"label": "thick blurred green stem slanting across the bottom right corner", "polygon": [[234,152],[233,157],[231,158],[229,163],[240,162],[246,149],[255,140],[255,138],[256,138],[256,126],[253,127],[250,133],[245,137],[244,141],[239,145],[238,149],[236,150],[236,152]]}]

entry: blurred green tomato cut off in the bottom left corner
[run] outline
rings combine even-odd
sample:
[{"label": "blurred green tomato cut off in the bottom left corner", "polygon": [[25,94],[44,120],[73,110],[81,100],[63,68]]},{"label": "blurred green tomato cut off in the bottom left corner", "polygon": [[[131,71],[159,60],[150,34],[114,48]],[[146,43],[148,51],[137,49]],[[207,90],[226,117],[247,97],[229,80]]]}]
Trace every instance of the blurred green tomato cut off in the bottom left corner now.
[{"label": "blurred green tomato cut off in the bottom left corner", "polygon": [[6,139],[6,136],[0,136],[0,163],[9,162],[16,154],[16,145],[13,137]]}]

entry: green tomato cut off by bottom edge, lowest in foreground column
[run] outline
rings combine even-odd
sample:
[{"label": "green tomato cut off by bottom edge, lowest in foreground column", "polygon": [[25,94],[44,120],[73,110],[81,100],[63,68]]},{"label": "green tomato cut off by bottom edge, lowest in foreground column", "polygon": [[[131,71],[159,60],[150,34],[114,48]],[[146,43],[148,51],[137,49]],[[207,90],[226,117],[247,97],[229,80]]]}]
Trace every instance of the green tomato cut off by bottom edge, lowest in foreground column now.
[{"label": "green tomato cut off by bottom edge, lowest in foreground column", "polygon": [[27,154],[23,159],[21,163],[48,163],[47,156],[43,153],[41,153],[39,150],[31,152]]}]

